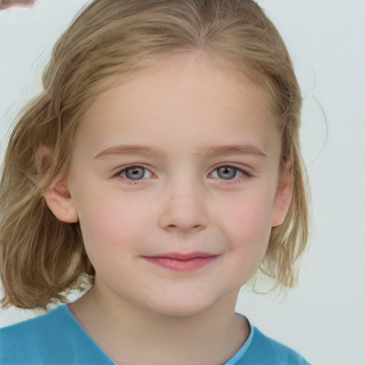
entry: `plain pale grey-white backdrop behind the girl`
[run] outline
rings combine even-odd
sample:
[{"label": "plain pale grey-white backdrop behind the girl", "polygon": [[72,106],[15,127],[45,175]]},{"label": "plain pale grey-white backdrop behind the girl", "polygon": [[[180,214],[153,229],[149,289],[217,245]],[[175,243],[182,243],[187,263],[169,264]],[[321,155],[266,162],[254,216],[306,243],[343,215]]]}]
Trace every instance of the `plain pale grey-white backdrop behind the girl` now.
[{"label": "plain pale grey-white backdrop behind the girl", "polygon": [[[41,90],[53,43],[88,0],[0,11],[1,155]],[[317,365],[365,364],[365,1],[259,0],[287,43],[304,96],[313,228],[287,296],[242,291],[237,312]],[[0,312],[0,326],[36,314]]]}]

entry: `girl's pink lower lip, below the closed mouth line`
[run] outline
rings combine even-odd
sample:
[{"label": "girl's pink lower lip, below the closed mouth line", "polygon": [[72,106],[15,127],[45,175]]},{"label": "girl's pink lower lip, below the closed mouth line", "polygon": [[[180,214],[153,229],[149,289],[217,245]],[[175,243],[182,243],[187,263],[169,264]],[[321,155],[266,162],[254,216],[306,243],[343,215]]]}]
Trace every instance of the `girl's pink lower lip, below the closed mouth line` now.
[{"label": "girl's pink lower lip, below the closed mouth line", "polygon": [[192,272],[215,261],[218,256],[173,259],[171,257],[145,257],[148,262],[178,272]]}]

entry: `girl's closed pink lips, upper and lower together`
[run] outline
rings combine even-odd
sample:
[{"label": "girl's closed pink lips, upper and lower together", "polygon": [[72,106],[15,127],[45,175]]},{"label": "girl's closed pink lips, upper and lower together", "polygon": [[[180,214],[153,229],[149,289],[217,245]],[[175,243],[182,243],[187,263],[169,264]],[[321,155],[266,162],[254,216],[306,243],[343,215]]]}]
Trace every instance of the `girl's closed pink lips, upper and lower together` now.
[{"label": "girl's closed pink lips, upper and lower together", "polygon": [[148,262],[178,272],[192,272],[215,261],[220,255],[213,255],[208,252],[190,252],[181,254],[169,252],[163,255],[145,256]]}]

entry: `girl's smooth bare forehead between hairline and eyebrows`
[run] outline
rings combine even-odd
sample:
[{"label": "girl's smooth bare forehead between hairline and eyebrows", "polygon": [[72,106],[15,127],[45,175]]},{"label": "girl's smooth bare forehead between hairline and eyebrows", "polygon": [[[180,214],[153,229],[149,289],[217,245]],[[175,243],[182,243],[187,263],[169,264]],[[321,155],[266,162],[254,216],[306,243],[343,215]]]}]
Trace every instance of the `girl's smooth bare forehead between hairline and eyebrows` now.
[{"label": "girl's smooth bare forehead between hairline and eyebrows", "polygon": [[244,74],[192,53],[108,80],[81,120],[78,139],[106,148],[158,143],[161,135],[168,145],[169,138],[180,136],[181,144],[200,142],[200,148],[243,140],[264,150],[270,133],[277,135],[266,91]]}]

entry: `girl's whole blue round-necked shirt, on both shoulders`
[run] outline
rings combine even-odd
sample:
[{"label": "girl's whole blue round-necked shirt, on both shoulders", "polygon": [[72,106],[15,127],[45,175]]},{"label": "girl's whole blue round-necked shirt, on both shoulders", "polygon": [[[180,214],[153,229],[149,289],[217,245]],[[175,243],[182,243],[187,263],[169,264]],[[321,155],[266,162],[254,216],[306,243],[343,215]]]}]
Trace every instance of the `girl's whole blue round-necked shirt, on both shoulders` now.
[{"label": "girl's whole blue round-necked shirt, on both shoulders", "polygon": [[[48,314],[0,329],[1,365],[115,365],[62,305]],[[251,327],[250,336],[223,365],[309,365],[289,347]]]}]

